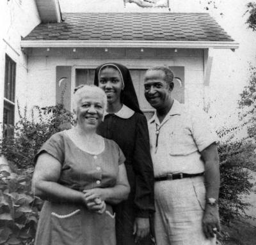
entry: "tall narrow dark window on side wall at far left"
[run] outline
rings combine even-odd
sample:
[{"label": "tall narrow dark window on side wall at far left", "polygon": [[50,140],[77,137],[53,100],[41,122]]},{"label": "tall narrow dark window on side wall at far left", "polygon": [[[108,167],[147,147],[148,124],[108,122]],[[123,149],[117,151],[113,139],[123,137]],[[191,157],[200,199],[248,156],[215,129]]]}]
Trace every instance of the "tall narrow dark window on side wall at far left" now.
[{"label": "tall narrow dark window on side wall at far left", "polygon": [[16,63],[5,56],[3,136],[13,135]]}]

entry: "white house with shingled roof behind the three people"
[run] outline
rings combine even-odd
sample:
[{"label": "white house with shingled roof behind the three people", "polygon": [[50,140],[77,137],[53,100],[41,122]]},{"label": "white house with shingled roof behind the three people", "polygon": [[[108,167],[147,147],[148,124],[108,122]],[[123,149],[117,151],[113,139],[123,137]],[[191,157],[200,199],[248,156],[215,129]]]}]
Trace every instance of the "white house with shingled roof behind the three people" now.
[{"label": "white house with shingled roof behind the three people", "polygon": [[[19,5],[18,0],[9,0],[5,8],[11,2]],[[19,35],[1,40],[4,123],[17,119],[13,112],[17,100],[28,108],[54,105],[64,90],[65,106],[71,109],[74,87],[92,84],[94,69],[109,61],[131,70],[146,114],[152,108],[143,96],[143,73],[154,65],[170,66],[179,77],[173,91],[177,100],[203,107],[212,48],[238,48],[207,13],[61,13],[58,0],[35,2],[29,13],[24,12],[31,22],[19,33],[21,40]],[[19,25],[13,28],[21,30]]]}]

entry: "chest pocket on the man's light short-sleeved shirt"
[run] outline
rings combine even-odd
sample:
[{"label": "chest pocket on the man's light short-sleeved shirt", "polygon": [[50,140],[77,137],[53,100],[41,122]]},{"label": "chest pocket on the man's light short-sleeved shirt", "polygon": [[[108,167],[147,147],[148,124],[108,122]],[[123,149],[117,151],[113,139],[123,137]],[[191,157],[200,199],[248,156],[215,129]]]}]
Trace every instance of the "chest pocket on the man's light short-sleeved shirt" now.
[{"label": "chest pocket on the man's light short-sleeved shirt", "polygon": [[171,156],[186,156],[197,151],[195,142],[188,129],[173,130],[169,134],[169,154]]}]

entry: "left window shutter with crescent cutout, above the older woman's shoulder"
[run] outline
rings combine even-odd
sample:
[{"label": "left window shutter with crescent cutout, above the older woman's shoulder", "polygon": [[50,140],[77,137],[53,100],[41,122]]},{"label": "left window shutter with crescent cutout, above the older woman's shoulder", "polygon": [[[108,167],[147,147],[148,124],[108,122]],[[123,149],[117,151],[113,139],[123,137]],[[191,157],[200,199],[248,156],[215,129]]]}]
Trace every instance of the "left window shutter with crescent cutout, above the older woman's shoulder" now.
[{"label": "left window shutter with crescent cutout, above the older woman's shoulder", "polygon": [[72,66],[56,66],[56,104],[63,103],[71,110],[71,75]]}]

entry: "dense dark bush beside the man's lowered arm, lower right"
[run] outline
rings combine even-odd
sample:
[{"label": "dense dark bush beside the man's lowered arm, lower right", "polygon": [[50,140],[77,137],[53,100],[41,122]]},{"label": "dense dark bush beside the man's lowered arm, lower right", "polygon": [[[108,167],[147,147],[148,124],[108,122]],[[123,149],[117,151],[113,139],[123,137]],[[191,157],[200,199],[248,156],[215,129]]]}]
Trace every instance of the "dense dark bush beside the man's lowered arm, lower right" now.
[{"label": "dense dark bush beside the man's lowered arm, lower right", "polygon": [[228,225],[235,218],[246,216],[250,205],[244,201],[244,195],[250,193],[253,184],[248,169],[255,170],[255,144],[247,139],[234,137],[237,128],[223,129],[218,132],[225,140],[218,147],[220,155],[220,217]]}]

